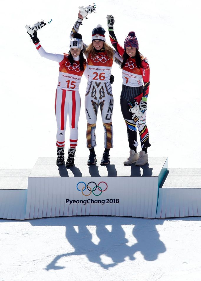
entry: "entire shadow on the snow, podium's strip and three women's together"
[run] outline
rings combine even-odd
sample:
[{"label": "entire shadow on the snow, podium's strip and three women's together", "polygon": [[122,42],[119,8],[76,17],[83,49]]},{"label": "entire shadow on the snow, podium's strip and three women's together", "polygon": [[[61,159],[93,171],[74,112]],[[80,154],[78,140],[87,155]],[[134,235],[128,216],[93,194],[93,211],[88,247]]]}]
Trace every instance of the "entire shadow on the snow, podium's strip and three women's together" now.
[{"label": "entire shadow on the snow, podium's strip and three women's together", "polygon": [[[104,269],[114,267],[128,257],[135,260],[134,254],[141,252],[147,261],[156,260],[160,253],[166,251],[164,243],[159,239],[159,233],[156,225],[163,224],[164,220],[150,220],[128,217],[63,217],[63,218],[47,218],[31,220],[33,226],[49,225],[49,226],[65,226],[66,238],[74,247],[75,251],[57,255],[46,270],[58,270],[65,268],[56,265],[57,261],[62,257],[72,255],[85,255],[90,262],[95,262]],[[98,245],[92,242],[92,234],[87,226],[96,227],[96,235],[98,236]],[[106,228],[111,225],[111,231]],[[134,225],[132,234],[136,238],[137,243],[132,246],[126,245],[128,240],[125,238],[125,232],[122,225]],[[74,226],[78,226],[78,232]],[[113,262],[104,264],[101,261],[101,255],[110,257]]]}]

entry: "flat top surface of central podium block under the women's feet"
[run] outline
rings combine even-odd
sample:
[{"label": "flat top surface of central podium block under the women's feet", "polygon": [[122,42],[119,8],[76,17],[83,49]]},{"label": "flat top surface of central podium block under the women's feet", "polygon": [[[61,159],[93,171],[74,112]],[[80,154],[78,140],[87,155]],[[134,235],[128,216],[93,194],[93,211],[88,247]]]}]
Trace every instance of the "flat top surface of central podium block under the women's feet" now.
[{"label": "flat top surface of central podium block under the women's feet", "polygon": [[77,157],[75,166],[65,167],[65,164],[57,166],[54,157],[39,157],[29,177],[158,177],[167,157],[150,157],[144,166],[125,166],[123,157],[113,157],[105,166],[99,164],[101,157],[97,157],[96,165],[88,166],[87,160]]}]

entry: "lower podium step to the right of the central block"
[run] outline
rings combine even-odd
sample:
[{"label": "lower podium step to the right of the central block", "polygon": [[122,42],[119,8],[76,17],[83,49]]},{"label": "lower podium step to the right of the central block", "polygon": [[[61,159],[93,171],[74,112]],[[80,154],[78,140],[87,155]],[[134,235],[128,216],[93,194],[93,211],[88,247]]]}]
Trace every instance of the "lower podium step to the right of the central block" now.
[{"label": "lower podium step to the right of the central block", "polygon": [[201,216],[201,169],[169,169],[159,188],[156,218]]}]

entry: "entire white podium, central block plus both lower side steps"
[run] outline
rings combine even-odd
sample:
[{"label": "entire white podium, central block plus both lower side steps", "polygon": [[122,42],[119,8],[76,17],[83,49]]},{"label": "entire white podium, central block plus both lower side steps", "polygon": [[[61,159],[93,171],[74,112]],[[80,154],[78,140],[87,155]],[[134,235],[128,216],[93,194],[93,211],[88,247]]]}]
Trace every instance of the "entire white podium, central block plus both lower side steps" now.
[{"label": "entire white podium, central block plus both lower side steps", "polygon": [[123,160],[88,166],[87,158],[76,158],[66,168],[39,158],[33,169],[0,169],[0,218],[201,216],[201,169],[168,169],[166,157],[143,167]]}]

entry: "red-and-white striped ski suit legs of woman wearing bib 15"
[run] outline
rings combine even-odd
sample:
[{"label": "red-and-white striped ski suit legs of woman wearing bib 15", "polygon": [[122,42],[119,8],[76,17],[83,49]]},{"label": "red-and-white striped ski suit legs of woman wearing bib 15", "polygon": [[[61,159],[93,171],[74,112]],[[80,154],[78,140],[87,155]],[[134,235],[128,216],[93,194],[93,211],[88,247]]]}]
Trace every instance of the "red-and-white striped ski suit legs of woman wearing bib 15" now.
[{"label": "red-and-white striped ski suit legs of woman wearing bib 15", "polygon": [[65,146],[67,115],[70,127],[70,147],[78,145],[78,121],[80,117],[80,93],[57,88],[55,97],[55,114],[57,120],[57,147]]}]

